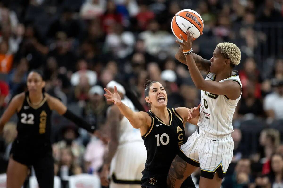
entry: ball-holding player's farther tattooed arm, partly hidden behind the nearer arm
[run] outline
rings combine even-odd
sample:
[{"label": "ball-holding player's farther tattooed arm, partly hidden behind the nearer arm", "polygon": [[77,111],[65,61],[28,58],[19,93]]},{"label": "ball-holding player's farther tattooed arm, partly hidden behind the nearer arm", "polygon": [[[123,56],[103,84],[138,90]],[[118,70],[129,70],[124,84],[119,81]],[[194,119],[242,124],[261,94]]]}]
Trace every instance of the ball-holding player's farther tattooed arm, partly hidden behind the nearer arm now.
[{"label": "ball-holding player's farther tattooed arm, partly hidden behind the nearer arm", "polygon": [[[198,67],[198,70],[203,70],[205,72],[209,72],[210,70],[210,60],[207,59],[203,59],[201,56],[195,54],[195,53],[191,53],[192,57],[194,58],[194,61],[196,62],[196,66]],[[175,54],[175,57],[178,61],[180,61],[181,63],[187,65],[186,62],[186,57],[183,53],[183,47],[182,45],[180,45],[177,53]]]}]

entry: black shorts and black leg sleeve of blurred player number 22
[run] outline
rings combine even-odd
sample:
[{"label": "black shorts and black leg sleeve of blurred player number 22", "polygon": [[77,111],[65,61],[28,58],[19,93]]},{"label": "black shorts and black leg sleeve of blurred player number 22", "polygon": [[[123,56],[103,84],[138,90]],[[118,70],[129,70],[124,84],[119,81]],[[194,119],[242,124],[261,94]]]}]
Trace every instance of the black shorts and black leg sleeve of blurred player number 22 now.
[{"label": "black shorts and black leg sleeve of blurred player number 22", "polygon": [[39,148],[33,148],[16,139],[12,145],[10,156],[16,162],[27,167],[33,166],[40,188],[53,187],[54,162],[50,144],[42,144]]}]

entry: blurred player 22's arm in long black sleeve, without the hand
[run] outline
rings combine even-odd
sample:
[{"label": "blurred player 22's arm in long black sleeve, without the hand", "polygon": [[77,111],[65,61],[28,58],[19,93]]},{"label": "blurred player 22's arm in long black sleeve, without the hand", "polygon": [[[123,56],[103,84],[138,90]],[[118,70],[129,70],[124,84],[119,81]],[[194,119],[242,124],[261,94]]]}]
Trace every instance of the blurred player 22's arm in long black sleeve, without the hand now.
[{"label": "blurred player 22's arm in long black sleeve, without the hand", "polygon": [[90,125],[87,123],[83,118],[75,115],[71,111],[67,109],[67,107],[57,98],[54,98],[50,95],[48,95],[47,99],[48,105],[51,110],[55,110],[58,112],[58,114],[63,115],[65,118],[68,120],[76,123],[78,127],[81,127],[91,133],[94,133],[95,131],[95,126]]}]

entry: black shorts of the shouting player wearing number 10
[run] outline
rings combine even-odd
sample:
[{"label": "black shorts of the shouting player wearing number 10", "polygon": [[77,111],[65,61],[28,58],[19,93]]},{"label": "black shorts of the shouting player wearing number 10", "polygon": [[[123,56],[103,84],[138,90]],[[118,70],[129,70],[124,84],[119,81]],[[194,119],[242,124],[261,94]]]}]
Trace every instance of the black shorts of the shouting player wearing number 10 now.
[{"label": "black shorts of the shouting player wearing number 10", "polygon": [[[166,188],[167,175],[162,173],[154,173],[150,171],[142,171],[141,187],[143,188]],[[181,185],[181,188],[195,188],[192,176],[189,176]]]}]

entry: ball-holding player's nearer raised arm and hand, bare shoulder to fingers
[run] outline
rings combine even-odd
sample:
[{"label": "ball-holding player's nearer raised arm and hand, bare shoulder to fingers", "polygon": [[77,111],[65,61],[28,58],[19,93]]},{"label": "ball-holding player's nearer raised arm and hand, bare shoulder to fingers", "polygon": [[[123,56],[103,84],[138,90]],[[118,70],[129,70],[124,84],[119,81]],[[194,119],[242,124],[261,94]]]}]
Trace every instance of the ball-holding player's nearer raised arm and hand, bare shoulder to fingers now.
[{"label": "ball-holding player's nearer raised arm and hand, bare shoulder to fingers", "polygon": [[[181,37],[183,39],[183,43],[176,41],[177,43],[182,45],[182,48],[184,50],[191,49],[193,41],[193,37],[190,35],[190,33],[188,31],[186,31],[186,33],[188,41],[186,41],[182,36]],[[205,80],[200,74],[200,71],[198,70],[198,67],[196,66],[194,58],[191,54],[186,55],[186,62],[194,85],[198,89],[217,95],[226,95],[232,100],[237,99],[241,95],[241,86],[236,81],[228,80],[224,82],[217,82],[212,80]]]}]

